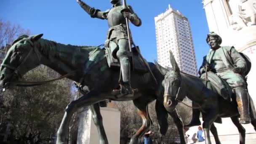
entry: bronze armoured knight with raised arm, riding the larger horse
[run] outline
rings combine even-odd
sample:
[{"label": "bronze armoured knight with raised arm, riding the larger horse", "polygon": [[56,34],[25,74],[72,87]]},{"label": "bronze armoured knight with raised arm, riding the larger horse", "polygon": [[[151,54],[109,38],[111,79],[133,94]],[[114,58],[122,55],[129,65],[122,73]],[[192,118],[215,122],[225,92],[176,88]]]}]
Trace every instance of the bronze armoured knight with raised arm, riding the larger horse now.
[{"label": "bronze armoured knight with raised arm, riding the larger horse", "polygon": [[112,56],[119,60],[120,73],[122,75],[122,80],[120,80],[120,90],[113,90],[112,94],[118,95],[121,93],[121,96],[132,97],[134,90],[131,88],[131,64],[129,61],[131,52],[129,51],[128,27],[125,18],[128,18],[131,23],[137,27],[141,25],[141,19],[139,19],[136,13],[133,12],[130,5],[128,5],[129,11],[123,12],[123,5],[120,0],[110,0],[113,4],[113,8],[108,9],[107,11],[91,8],[81,0],[77,0],[77,2],[92,18],[107,19],[109,30],[107,32],[105,47],[110,48]]}]

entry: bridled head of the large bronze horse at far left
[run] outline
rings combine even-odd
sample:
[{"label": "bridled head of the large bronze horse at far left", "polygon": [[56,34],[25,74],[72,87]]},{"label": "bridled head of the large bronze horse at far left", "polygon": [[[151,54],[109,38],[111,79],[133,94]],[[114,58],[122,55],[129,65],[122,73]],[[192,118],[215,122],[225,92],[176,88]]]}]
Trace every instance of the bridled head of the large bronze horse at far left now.
[{"label": "bridled head of the large bronze horse at far left", "polygon": [[42,36],[43,34],[30,37],[21,35],[13,41],[0,67],[0,86],[8,88],[11,82],[39,65],[40,53],[34,42]]}]

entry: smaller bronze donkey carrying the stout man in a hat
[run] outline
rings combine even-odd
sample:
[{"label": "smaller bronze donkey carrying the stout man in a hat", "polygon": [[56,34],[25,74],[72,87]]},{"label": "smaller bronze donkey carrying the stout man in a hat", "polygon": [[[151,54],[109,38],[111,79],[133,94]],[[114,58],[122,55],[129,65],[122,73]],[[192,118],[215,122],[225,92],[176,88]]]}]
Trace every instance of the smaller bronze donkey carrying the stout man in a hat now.
[{"label": "smaller bronze donkey carrying the stout man in a hat", "polygon": [[[180,72],[180,69],[170,51],[170,61],[172,70],[161,67],[157,64],[157,68],[165,75],[163,80],[164,91],[164,106],[169,111],[175,109],[179,101],[182,101],[185,96],[200,106],[199,110],[203,116],[203,129],[205,133],[205,144],[211,144],[210,133],[214,136],[216,144],[221,144],[217,129],[214,126],[214,121],[218,117],[231,117],[240,135],[240,144],[245,144],[245,129],[239,123],[239,112],[237,110],[236,101],[229,102],[224,100],[217,91],[216,87],[208,82],[205,87],[205,80]],[[251,124],[256,131],[256,113],[253,101],[250,97],[250,117]]]}]

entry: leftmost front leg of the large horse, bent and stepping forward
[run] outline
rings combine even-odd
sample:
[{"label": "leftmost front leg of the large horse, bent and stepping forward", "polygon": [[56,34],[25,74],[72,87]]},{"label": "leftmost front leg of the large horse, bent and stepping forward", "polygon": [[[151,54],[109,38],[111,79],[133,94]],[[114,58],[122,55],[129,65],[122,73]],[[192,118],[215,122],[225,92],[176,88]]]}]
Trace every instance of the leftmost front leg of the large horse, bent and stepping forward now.
[{"label": "leftmost front leg of the large horse, bent and stepping forward", "polygon": [[67,105],[65,109],[66,112],[62,118],[59,130],[57,131],[56,144],[68,144],[69,122],[72,118],[72,115],[74,114],[74,112],[77,111],[77,109],[89,106],[102,100],[100,97],[97,98],[96,96],[99,96],[97,91],[90,91],[86,93],[84,96],[80,97],[75,101],[70,102]]}]

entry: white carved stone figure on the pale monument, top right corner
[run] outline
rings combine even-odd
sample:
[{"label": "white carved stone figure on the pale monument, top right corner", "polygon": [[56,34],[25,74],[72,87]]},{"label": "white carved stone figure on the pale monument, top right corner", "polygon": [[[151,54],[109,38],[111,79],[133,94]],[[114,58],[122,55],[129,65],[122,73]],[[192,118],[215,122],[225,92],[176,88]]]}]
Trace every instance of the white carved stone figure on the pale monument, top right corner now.
[{"label": "white carved stone figure on the pale monument, top right corner", "polygon": [[237,10],[232,15],[231,24],[235,30],[256,25],[256,0],[239,0]]}]

